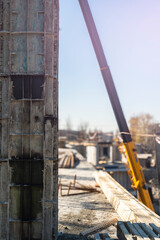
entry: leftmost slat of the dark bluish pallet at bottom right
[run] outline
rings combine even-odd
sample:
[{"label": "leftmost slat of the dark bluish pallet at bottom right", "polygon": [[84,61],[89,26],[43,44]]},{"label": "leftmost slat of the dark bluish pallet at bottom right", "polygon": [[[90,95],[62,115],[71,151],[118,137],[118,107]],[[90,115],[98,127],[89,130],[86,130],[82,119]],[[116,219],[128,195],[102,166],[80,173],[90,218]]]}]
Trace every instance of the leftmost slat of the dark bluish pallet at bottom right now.
[{"label": "leftmost slat of the dark bluish pallet at bottom right", "polygon": [[117,236],[121,240],[133,240],[132,236],[122,221],[118,221],[117,223]]}]

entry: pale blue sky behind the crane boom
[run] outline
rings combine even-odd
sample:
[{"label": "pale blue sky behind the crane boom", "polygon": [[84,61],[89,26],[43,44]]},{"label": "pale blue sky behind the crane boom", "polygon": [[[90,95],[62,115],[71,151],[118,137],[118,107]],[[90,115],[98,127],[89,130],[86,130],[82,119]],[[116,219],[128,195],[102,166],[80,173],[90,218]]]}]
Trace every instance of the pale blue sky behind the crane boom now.
[{"label": "pale blue sky behind the crane boom", "polygon": [[[160,0],[89,0],[128,121],[160,121]],[[60,0],[59,126],[118,129],[78,0]]]}]

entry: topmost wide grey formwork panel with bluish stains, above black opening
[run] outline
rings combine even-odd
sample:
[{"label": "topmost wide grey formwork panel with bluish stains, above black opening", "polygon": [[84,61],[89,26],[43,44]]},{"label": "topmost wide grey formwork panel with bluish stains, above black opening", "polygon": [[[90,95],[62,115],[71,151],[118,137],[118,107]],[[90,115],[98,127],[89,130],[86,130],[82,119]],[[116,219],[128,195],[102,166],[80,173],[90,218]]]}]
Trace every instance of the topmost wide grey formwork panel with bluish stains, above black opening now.
[{"label": "topmost wide grey formwork panel with bluish stains, above black opening", "polygon": [[43,1],[13,0],[11,8],[11,72],[43,74]]}]

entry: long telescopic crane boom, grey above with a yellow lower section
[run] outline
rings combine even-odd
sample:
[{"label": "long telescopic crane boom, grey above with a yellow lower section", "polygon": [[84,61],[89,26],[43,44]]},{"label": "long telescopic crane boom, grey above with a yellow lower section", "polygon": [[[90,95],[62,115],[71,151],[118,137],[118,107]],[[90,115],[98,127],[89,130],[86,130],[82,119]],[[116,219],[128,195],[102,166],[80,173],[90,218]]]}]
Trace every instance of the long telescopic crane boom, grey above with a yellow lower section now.
[{"label": "long telescopic crane boom, grey above with a yellow lower section", "polygon": [[132,187],[138,191],[139,199],[147,207],[154,211],[152,201],[146,187],[146,181],[137,157],[136,149],[124,117],[124,113],[118,98],[118,94],[112,79],[112,75],[104,55],[103,47],[96,29],[96,25],[87,0],[79,0],[79,4],[88,28],[88,32],[93,44],[93,48],[100,66],[103,80],[108,91],[108,95],[112,104],[112,108],[119,126],[119,130],[123,139],[125,156],[128,160],[128,174],[132,183]]}]

